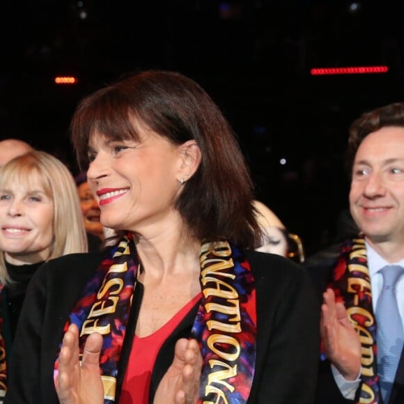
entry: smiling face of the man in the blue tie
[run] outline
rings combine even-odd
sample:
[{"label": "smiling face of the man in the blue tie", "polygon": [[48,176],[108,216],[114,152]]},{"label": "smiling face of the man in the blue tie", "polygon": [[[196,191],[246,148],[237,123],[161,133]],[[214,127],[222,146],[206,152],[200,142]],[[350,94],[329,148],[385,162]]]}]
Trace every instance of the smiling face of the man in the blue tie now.
[{"label": "smiling face of the man in the blue tie", "polygon": [[360,144],[350,212],[373,244],[404,243],[404,127],[383,127]]}]

